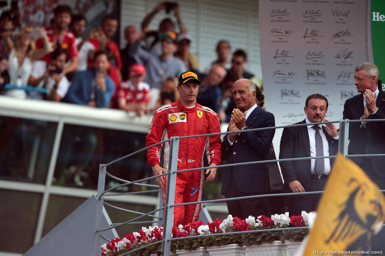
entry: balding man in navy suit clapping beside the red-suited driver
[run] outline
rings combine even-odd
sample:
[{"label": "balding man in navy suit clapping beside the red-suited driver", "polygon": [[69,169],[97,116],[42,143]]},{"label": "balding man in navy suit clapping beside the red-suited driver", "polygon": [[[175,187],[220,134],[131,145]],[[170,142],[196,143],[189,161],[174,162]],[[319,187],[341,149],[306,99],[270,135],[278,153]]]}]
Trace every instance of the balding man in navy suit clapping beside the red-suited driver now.
[{"label": "balding man in navy suit clapping beside the red-suited driver", "polygon": [[[248,79],[234,83],[233,96],[237,109],[233,110],[228,131],[249,130],[275,126],[272,113],[261,110],[255,103],[255,84]],[[268,160],[275,129],[231,133],[224,136],[222,159],[228,164]],[[269,192],[267,163],[227,167],[224,170],[221,194],[226,198],[267,194]],[[229,214],[245,219],[266,214],[264,198],[227,201]]]}]

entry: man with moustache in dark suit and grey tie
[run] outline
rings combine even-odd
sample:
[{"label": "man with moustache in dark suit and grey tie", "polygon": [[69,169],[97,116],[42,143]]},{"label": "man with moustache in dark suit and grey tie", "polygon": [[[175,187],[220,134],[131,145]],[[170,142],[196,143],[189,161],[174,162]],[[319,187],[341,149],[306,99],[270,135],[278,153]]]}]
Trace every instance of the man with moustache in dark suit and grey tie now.
[{"label": "man with moustache in dark suit and grey tie", "polygon": [[[328,100],[320,94],[308,96],[305,103],[305,120],[296,124],[322,122],[328,110]],[[328,121],[325,119],[325,121]],[[313,156],[332,156],[338,151],[338,133],[335,125],[295,126],[283,129],[280,159]],[[281,161],[283,180],[282,193],[322,191],[333,160]],[[289,214],[301,215],[301,211],[315,211],[321,194],[290,196]]]}]

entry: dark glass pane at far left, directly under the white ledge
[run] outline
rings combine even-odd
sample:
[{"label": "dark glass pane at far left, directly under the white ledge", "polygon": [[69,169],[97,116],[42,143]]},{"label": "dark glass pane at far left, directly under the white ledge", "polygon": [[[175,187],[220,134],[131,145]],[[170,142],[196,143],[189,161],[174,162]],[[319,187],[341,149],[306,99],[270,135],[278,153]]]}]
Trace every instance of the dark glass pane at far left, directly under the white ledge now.
[{"label": "dark glass pane at far left, directly under the white ledge", "polygon": [[45,183],[57,123],[0,116],[0,178]]}]

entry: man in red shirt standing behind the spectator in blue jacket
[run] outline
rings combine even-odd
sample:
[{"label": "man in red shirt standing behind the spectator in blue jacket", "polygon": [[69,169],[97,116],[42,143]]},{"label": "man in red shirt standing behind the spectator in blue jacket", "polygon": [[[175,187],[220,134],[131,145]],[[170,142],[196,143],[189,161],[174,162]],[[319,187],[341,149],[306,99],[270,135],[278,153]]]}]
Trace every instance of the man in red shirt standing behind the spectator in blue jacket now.
[{"label": "man in red shirt standing behind the spectator in blue jacket", "polygon": [[[100,36],[89,40],[89,42],[95,46],[95,52],[97,50],[105,50],[110,53],[110,68],[108,75],[111,77],[112,81],[114,81],[116,87],[119,86],[122,81],[122,74],[120,70],[123,68],[119,46],[114,40],[112,40],[117,28],[117,18],[112,15],[106,15],[104,16],[102,23],[100,23],[100,28],[98,30]],[[92,52],[90,53],[90,56],[92,57]]]}]

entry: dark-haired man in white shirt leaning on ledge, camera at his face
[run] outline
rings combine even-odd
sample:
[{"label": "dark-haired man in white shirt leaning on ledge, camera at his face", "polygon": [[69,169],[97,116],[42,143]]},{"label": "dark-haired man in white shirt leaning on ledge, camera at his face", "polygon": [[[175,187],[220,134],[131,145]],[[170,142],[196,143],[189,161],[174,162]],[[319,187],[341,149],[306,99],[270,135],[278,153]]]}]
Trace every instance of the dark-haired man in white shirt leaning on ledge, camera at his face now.
[{"label": "dark-haired man in white shirt leaning on ledge, camera at his face", "polygon": [[46,95],[33,92],[35,99],[61,101],[64,98],[70,86],[67,77],[63,74],[63,68],[68,59],[67,50],[57,48],[51,53],[51,61],[45,68],[33,66],[28,84],[47,89]]}]

